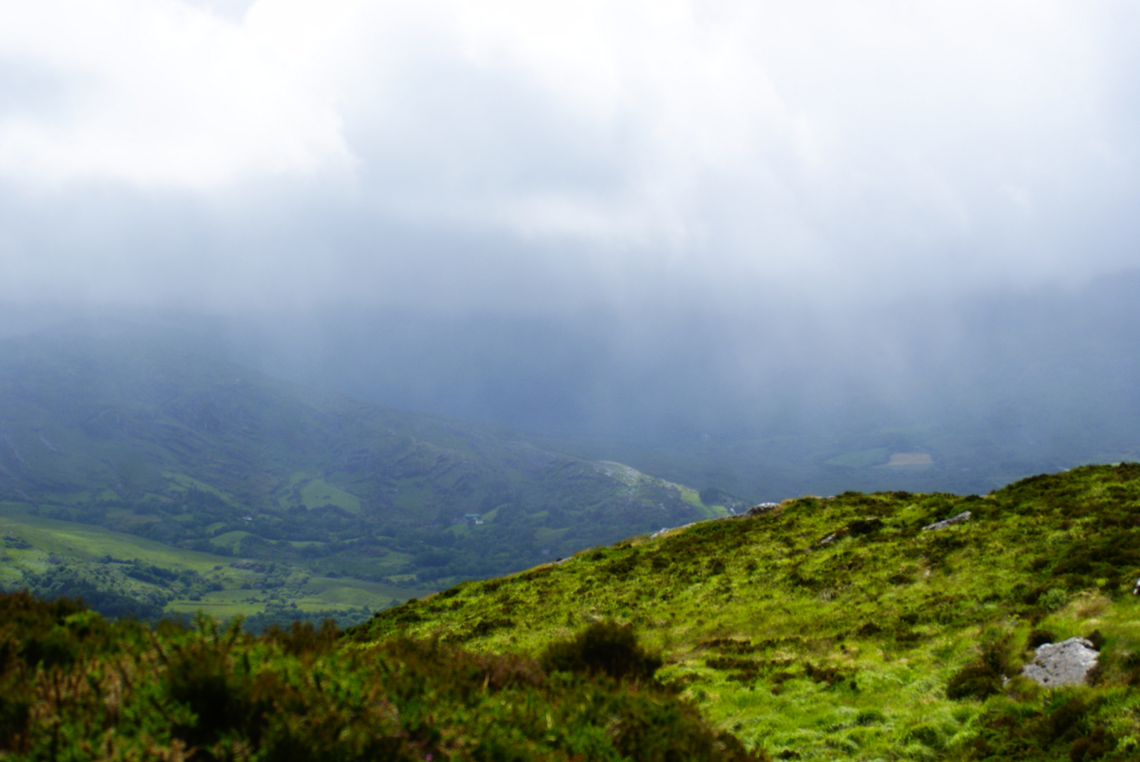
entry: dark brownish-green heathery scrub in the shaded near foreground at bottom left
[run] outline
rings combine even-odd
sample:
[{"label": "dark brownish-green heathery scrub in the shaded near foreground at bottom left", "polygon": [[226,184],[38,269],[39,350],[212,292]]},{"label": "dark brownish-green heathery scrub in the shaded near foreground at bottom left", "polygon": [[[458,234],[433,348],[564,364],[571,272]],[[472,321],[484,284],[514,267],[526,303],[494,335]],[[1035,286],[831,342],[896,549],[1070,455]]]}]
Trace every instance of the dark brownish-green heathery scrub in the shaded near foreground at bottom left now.
[{"label": "dark brownish-green heathery scrub in the shaded near foreground at bottom left", "polygon": [[621,627],[531,659],[344,648],[329,624],[150,630],[27,593],[0,595],[0,759],[766,759],[654,681],[659,662]]}]

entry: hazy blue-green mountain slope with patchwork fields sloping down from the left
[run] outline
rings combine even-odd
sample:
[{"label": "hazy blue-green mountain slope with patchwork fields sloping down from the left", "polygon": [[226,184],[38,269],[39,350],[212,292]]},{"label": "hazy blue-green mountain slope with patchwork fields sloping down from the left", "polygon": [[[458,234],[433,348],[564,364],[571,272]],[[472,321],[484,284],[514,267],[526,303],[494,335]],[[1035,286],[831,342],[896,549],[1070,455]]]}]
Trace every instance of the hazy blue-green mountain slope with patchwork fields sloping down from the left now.
[{"label": "hazy blue-green mountain slope with patchwork fields sloping down from the left", "polygon": [[0,342],[0,578],[107,611],[359,616],[716,500],[152,338]]}]

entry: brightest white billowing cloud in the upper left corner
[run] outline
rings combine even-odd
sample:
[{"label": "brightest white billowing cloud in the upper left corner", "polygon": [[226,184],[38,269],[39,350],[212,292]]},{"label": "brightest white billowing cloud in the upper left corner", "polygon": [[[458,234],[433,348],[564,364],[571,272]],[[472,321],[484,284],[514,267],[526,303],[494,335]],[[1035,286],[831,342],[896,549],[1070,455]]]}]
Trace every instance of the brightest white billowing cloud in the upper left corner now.
[{"label": "brightest white billowing cloud in the upper left corner", "polygon": [[55,87],[6,110],[0,169],[32,185],[210,188],[343,162],[341,120],[311,62],[259,16],[237,24],[172,1],[9,3],[5,67]]}]

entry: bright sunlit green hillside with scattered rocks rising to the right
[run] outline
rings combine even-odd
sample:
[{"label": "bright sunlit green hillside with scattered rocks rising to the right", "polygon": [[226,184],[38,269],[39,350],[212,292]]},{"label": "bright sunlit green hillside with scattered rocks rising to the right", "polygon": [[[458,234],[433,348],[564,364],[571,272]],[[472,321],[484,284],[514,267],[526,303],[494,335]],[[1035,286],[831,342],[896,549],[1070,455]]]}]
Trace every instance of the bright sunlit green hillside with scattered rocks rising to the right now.
[{"label": "bright sunlit green hillside with scattered rocks rising to the right", "polygon": [[[612,621],[717,728],[776,759],[1132,760],[1138,576],[1140,465],[1085,467],[984,497],[785,501],[464,583],[351,638],[537,655]],[[1074,635],[1099,647],[1093,684],[1020,676],[1032,647]]]}]

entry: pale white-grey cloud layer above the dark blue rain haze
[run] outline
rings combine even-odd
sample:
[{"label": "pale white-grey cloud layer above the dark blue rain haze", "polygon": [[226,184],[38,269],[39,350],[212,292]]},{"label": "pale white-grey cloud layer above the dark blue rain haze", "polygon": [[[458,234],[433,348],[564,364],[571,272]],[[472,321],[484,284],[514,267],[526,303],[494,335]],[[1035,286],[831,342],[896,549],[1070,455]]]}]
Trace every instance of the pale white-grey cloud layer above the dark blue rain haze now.
[{"label": "pale white-grey cloud layer above the dark blue rain haze", "polygon": [[1138,264],[1123,2],[42,0],[5,19],[9,298],[889,300]]}]

